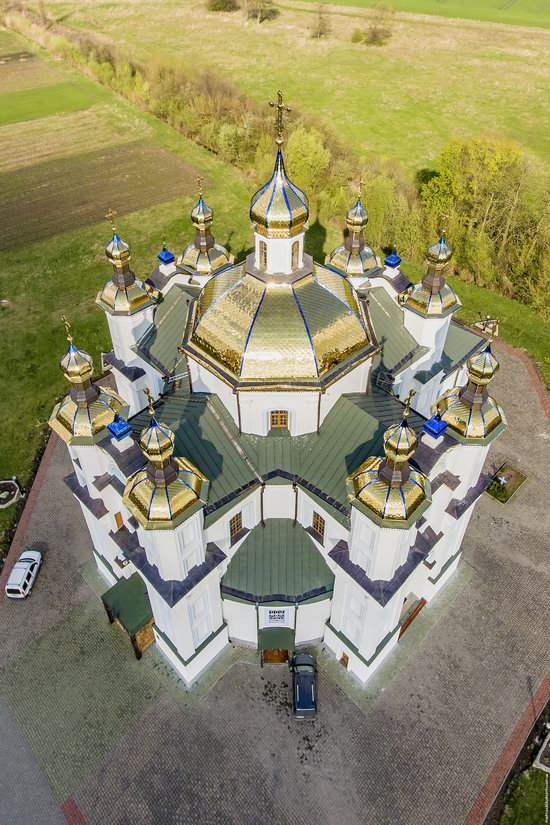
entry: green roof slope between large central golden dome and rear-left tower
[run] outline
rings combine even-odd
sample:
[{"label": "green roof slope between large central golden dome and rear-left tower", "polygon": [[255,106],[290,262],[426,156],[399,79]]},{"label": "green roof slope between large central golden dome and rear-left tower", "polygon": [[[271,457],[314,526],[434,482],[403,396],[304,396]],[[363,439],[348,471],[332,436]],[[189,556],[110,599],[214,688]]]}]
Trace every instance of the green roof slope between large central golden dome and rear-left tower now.
[{"label": "green roof slope between large central golden dome and rear-left tower", "polygon": [[174,284],[157,307],[153,329],[136,347],[138,355],[166,375],[186,369],[185,356],[178,347],[187,321],[187,302],[199,292],[200,287]]}]

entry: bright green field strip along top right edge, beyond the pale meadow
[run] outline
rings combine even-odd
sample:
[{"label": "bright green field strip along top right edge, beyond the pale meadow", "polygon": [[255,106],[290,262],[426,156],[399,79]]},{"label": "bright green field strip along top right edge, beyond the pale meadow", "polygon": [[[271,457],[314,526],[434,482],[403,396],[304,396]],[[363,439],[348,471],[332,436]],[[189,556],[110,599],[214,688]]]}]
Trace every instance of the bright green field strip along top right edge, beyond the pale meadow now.
[{"label": "bright green field strip along top right edge, beyond the pale meadow", "polygon": [[[308,0],[316,2],[316,0]],[[369,8],[379,0],[327,0],[330,5]],[[515,26],[550,27],[547,0],[391,0],[395,11],[511,23]]]}]

